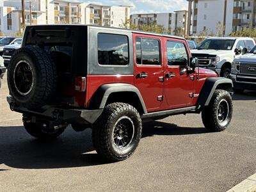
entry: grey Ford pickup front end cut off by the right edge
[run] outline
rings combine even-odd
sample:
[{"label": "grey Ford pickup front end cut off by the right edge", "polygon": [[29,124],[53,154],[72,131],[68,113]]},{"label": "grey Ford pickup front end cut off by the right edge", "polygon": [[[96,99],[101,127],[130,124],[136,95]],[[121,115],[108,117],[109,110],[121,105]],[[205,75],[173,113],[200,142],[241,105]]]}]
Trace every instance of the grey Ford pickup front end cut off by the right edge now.
[{"label": "grey Ford pickup front end cut off by the right edge", "polygon": [[236,93],[256,90],[256,46],[247,54],[234,59],[230,79]]}]

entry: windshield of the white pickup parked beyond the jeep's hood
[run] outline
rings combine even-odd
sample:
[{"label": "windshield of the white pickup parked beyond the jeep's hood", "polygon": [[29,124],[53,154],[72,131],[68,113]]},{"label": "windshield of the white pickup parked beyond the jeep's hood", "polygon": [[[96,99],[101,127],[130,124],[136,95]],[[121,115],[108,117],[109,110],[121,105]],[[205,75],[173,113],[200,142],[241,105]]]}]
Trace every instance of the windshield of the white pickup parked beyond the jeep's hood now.
[{"label": "windshield of the white pickup parked beyond the jeep's hood", "polygon": [[236,40],[231,39],[206,39],[197,49],[231,50]]}]

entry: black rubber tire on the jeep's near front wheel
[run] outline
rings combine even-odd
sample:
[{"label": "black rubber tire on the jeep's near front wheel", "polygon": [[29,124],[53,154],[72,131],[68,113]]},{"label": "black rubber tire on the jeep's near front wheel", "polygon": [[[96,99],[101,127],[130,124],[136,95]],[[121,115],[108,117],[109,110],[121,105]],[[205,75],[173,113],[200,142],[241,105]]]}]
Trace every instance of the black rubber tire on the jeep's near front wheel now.
[{"label": "black rubber tire on the jeep's near front wheel", "polygon": [[[227,101],[228,113],[227,118],[220,122],[218,119],[218,106],[220,102]],[[226,90],[216,90],[212,95],[212,99],[208,106],[202,109],[202,121],[206,129],[209,131],[224,131],[232,118],[233,105],[230,93]]]}]

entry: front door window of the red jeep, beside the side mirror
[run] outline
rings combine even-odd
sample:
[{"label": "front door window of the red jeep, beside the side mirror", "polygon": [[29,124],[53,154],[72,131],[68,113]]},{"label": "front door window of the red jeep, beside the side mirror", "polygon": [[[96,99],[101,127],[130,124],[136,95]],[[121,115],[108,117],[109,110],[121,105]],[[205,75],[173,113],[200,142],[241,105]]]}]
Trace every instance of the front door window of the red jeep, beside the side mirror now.
[{"label": "front door window of the red jeep, beside the side mirror", "polygon": [[168,65],[188,65],[186,47],[180,42],[166,42]]}]

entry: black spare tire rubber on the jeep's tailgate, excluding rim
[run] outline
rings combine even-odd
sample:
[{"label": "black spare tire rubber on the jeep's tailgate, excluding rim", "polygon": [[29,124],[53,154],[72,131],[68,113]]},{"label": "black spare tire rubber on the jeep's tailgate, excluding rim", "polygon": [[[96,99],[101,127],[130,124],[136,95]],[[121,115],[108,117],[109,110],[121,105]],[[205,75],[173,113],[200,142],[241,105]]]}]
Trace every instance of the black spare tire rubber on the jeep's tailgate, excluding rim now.
[{"label": "black spare tire rubber on the jeep's tailgate, excluding rim", "polygon": [[[15,87],[15,68],[20,61],[28,62],[33,74],[31,91],[20,94]],[[10,61],[8,76],[8,88],[15,104],[24,108],[40,108],[47,104],[56,90],[56,67],[47,53],[39,47],[22,47],[14,52]]]}]

